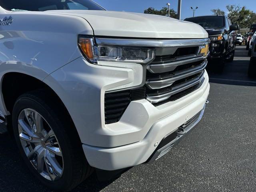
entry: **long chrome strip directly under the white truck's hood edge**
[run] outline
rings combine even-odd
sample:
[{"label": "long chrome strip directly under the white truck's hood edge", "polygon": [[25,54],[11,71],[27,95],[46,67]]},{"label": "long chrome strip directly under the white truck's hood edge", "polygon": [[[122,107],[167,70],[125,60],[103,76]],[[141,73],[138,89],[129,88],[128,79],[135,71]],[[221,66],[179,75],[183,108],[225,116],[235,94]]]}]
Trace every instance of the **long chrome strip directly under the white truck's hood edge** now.
[{"label": "long chrome strip directly under the white truck's hood edge", "polygon": [[138,40],[138,39],[122,39],[122,38],[95,38],[98,45],[114,45],[114,46],[142,46],[142,47],[189,47],[204,46],[210,44],[209,38],[204,39],[173,39],[173,40]]}]

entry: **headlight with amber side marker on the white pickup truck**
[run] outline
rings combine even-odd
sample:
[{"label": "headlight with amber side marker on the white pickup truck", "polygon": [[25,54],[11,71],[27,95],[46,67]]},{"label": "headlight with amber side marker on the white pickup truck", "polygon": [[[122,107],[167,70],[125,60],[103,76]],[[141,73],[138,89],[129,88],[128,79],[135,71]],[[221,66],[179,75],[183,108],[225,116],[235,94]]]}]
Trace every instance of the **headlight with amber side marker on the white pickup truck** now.
[{"label": "headlight with amber side marker on the white pickup truck", "polygon": [[79,38],[79,46],[88,60],[147,63],[154,59],[154,49],[96,45],[91,38]]}]

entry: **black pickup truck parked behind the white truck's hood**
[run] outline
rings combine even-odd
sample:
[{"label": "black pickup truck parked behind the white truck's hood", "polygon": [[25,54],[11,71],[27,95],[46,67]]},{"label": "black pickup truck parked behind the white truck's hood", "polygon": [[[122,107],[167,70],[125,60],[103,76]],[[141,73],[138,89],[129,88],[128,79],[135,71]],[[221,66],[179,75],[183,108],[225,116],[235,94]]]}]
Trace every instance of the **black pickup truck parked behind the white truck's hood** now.
[{"label": "black pickup truck parked behind the white truck's hood", "polygon": [[216,64],[223,66],[224,61],[233,61],[236,48],[236,31],[238,25],[232,25],[230,18],[224,15],[199,16],[186,18],[185,21],[202,26],[211,39],[209,60],[218,60]]}]

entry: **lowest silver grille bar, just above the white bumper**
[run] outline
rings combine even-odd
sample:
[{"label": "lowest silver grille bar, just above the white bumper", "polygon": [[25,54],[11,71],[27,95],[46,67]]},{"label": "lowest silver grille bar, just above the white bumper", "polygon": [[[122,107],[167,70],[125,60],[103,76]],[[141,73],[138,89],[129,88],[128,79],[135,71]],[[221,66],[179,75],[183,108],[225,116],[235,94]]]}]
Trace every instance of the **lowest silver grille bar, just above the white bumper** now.
[{"label": "lowest silver grille bar, just above the white bumper", "polygon": [[147,100],[154,104],[154,103],[159,103],[159,102],[162,102],[164,100],[167,100],[168,98],[170,98],[172,95],[176,94],[176,93],[179,93],[183,90],[186,90],[198,83],[200,83],[202,80],[204,80],[204,74],[205,72],[202,74],[202,77],[199,79],[199,80],[196,80],[195,82],[191,83],[191,84],[188,84],[186,86],[183,86],[181,88],[178,88],[176,90],[173,90],[173,91],[170,91],[170,92],[167,92],[167,93],[164,93],[164,94],[161,94],[161,95],[157,95],[157,96],[148,96],[147,97]]}]

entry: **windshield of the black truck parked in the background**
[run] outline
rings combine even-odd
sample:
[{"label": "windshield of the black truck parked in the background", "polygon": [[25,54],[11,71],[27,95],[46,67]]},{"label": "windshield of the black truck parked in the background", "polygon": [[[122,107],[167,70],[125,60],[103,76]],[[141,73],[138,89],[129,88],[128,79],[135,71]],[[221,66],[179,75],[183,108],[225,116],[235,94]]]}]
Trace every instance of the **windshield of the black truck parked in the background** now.
[{"label": "windshield of the black truck parked in the background", "polygon": [[185,21],[199,24],[205,29],[210,29],[210,28],[220,29],[225,26],[223,16],[192,17],[192,18],[186,18]]}]

